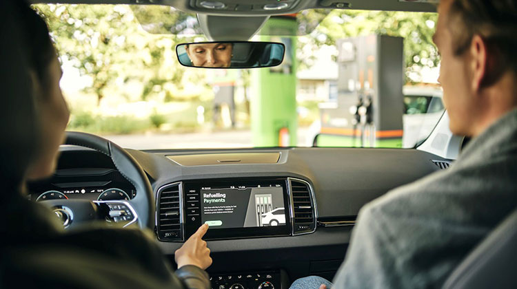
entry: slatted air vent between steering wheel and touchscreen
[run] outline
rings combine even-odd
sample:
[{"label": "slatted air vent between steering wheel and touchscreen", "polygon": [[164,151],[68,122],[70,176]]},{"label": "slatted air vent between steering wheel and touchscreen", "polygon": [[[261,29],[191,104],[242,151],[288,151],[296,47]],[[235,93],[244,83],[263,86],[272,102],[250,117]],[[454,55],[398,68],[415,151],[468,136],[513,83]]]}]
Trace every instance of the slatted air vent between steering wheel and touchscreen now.
[{"label": "slatted air vent between steering wheel and touchscreen", "polygon": [[161,241],[183,240],[181,182],[162,186],[156,198],[156,233]]}]

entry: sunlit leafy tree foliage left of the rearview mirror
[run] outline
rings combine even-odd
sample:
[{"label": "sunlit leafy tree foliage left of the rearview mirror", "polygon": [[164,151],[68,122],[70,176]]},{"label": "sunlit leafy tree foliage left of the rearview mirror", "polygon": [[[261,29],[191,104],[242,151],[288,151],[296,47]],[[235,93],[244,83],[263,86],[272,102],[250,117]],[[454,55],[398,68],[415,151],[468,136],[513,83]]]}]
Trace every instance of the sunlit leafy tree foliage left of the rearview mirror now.
[{"label": "sunlit leafy tree foliage left of the rearview mirror", "polygon": [[[73,61],[82,75],[92,78],[92,86],[85,87],[85,92],[96,94],[98,103],[108,88],[132,80],[143,84],[142,100],[159,92],[182,91],[188,81],[203,85],[203,72],[185,74],[185,68],[176,61],[174,43],[179,36],[169,32],[150,34],[134,17],[166,19],[148,28],[156,32],[174,28],[173,32],[180,33],[181,27],[188,28],[185,21],[192,21],[192,17],[171,10],[174,8],[62,4],[35,7],[48,23],[61,57]],[[192,36],[181,39],[190,40]]]}]

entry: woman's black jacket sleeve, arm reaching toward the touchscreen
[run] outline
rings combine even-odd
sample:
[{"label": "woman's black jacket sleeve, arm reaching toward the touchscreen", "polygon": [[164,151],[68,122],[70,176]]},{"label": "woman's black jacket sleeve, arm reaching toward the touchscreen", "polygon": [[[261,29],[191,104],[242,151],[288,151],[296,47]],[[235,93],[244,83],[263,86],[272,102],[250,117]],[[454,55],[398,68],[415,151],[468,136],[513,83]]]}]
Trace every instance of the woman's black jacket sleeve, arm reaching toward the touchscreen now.
[{"label": "woman's black jacket sleeve, arm reaching toward the touchscreen", "polygon": [[0,288],[210,288],[201,268],[175,273],[150,230],[92,224],[65,232],[48,209],[16,204],[2,211],[20,217],[0,225]]}]

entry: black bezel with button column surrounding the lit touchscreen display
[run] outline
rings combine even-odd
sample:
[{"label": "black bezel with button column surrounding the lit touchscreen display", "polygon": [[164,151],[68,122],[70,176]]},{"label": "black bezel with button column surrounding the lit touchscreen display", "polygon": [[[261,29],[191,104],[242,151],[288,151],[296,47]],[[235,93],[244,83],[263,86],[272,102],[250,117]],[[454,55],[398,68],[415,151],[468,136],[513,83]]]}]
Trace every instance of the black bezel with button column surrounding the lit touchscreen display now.
[{"label": "black bezel with button column surrounding the lit touchscreen display", "polygon": [[[198,180],[198,181],[187,181],[183,182],[183,202],[187,202],[187,193],[196,191],[201,198],[201,188],[230,188],[230,186],[245,186],[245,187],[256,187],[258,185],[276,186],[280,184],[283,191],[283,200],[285,207],[285,225],[283,226],[264,226],[264,227],[245,227],[245,228],[209,228],[203,239],[240,239],[240,238],[251,238],[251,237],[279,237],[289,236],[292,232],[291,217],[290,217],[290,196],[287,191],[287,179],[286,178],[261,178],[261,179],[225,179],[225,180]],[[184,208],[186,208],[184,204]],[[187,212],[185,214],[185,239],[190,237],[196,230],[201,226],[201,207],[199,217],[193,220],[192,216],[189,216]]]}]

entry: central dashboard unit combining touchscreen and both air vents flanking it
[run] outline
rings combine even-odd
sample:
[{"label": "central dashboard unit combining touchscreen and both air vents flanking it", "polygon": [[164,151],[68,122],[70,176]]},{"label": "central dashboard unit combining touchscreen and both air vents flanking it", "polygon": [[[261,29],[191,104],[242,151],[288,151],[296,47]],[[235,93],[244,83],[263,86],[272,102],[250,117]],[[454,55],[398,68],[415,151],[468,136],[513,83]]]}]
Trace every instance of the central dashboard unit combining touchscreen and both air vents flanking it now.
[{"label": "central dashboard unit combining touchscreen and both air vents flanking it", "polygon": [[239,239],[313,233],[312,186],[295,178],[216,179],[175,182],[156,196],[156,233],[183,242],[202,224],[205,238]]}]

